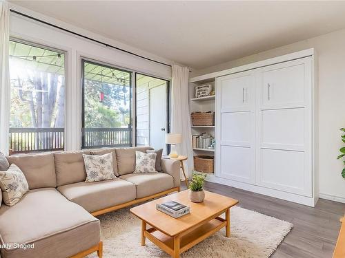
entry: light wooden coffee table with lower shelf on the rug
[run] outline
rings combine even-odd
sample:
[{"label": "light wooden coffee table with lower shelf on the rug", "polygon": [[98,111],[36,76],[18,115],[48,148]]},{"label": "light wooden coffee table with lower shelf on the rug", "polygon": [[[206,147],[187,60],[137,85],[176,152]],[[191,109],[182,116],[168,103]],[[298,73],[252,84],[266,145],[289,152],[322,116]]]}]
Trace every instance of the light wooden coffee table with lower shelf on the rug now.
[{"label": "light wooden coffee table with lower shelf on the rug", "polygon": [[[166,197],[141,204],[130,212],[141,219],[141,246],[146,237],[153,244],[166,251],[173,258],[195,246],[221,228],[226,227],[226,237],[230,236],[230,208],[237,200],[205,191],[205,200],[199,204],[188,200],[188,191],[181,191]],[[156,204],[176,201],[190,206],[190,214],[175,219],[157,211]],[[226,213],[226,219],[219,215]],[[150,228],[146,228],[146,225]]]}]

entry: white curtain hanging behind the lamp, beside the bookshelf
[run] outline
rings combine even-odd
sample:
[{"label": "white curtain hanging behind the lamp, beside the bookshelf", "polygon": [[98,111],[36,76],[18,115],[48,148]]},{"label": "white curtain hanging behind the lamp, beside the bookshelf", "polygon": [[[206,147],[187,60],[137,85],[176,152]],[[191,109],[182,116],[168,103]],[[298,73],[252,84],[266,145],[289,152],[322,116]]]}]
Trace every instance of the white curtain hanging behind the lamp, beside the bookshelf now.
[{"label": "white curtain hanging behind the lamp, beside the bookshelf", "polygon": [[[188,94],[189,69],[172,65],[171,86],[171,128],[172,133],[182,134],[182,143],[176,149],[180,155],[188,156],[184,163],[186,173],[193,169],[192,131],[190,129],[190,111]],[[188,177],[187,175],[187,177]]]}]

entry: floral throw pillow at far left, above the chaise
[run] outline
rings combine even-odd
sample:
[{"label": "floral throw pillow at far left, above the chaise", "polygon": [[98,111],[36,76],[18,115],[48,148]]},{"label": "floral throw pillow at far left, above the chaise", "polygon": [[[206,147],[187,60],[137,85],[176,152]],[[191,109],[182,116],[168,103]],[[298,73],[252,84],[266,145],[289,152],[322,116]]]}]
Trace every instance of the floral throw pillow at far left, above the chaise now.
[{"label": "floral throw pillow at far left, above the chaise", "polygon": [[15,164],[11,164],[7,171],[0,171],[0,188],[3,192],[3,202],[8,206],[17,204],[29,191],[25,175]]}]

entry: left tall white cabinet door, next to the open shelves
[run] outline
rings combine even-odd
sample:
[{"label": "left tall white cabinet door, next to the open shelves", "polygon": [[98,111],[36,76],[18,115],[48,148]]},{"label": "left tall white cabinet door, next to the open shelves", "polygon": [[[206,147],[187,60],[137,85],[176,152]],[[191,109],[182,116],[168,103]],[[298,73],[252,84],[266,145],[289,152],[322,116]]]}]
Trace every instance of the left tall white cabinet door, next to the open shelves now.
[{"label": "left tall white cabinet door, next to the open shelves", "polygon": [[242,72],[217,78],[216,175],[255,182],[255,76]]}]

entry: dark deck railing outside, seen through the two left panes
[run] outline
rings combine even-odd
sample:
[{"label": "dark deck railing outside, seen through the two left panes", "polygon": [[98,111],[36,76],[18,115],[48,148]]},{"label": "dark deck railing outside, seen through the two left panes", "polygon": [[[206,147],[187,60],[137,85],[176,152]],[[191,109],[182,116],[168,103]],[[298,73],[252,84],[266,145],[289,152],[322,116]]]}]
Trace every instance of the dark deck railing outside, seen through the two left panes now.
[{"label": "dark deck railing outside, seen through the two left panes", "polygon": [[[82,148],[127,147],[131,128],[86,128],[81,130]],[[10,128],[10,155],[18,153],[61,151],[63,128]]]}]

